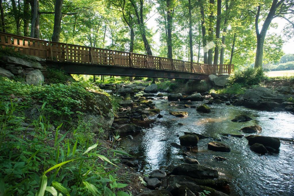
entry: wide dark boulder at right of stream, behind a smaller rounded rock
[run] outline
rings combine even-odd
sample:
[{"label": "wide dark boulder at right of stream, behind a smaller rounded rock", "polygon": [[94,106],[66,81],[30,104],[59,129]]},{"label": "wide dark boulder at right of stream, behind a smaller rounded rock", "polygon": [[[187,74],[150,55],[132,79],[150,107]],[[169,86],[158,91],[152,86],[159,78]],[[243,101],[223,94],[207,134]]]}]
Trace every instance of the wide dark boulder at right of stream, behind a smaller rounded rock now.
[{"label": "wide dark boulder at right of stream, behind a smaller rounded rock", "polygon": [[281,146],[280,139],[276,137],[250,135],[250,136],[246,136],[245,138],[248,140],[248,144],[250,146],[255,143],[260,143],[265,147],[269,146],[274,148],[275,150],[279,150]]}]

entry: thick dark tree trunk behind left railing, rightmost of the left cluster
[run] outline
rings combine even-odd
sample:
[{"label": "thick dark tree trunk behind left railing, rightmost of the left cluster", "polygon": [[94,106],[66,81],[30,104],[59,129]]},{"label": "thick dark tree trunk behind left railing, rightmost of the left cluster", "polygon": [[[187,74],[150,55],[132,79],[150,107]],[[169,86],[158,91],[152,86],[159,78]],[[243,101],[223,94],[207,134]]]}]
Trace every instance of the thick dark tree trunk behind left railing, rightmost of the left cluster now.
[{"label": "thick dark tree trunk behind left railing, rightmost of the left cluster", "polygon": [[52,34],[52,41],[59,42],[60,31],[61,31],[61,18],[62,18],[62,4],[63,0],[55,0],[54,5],[54,27]]}]

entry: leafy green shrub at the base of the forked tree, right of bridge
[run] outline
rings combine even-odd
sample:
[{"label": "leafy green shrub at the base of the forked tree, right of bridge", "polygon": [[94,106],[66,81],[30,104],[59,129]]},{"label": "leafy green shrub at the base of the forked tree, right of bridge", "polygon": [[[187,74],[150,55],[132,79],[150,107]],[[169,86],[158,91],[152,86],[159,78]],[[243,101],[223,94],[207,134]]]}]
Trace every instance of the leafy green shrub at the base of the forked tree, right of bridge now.
[{"label": "leafy green shrub at the base of the forked tree, right of bridge", "polygon": [[260,82],[267,80],[268,77],[264,74],[261,67],[248,67],[243,71],[236,71],[229,77],[231,84],[240,83],[244,85],[258,85]]}]

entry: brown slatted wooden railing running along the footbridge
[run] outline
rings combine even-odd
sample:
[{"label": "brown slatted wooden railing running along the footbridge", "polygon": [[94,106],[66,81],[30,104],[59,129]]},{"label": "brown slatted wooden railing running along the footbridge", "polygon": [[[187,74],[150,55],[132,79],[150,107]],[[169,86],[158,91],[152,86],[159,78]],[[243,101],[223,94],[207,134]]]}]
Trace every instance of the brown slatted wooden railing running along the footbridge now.
[{"label": "brown slatted wooden railing running along the footbridge", "polygon": [[207,65],[137,53],[39,40],[0,32],[2,48],[47,60],[161,69],[202,74],[230,74],[234,65]]}]

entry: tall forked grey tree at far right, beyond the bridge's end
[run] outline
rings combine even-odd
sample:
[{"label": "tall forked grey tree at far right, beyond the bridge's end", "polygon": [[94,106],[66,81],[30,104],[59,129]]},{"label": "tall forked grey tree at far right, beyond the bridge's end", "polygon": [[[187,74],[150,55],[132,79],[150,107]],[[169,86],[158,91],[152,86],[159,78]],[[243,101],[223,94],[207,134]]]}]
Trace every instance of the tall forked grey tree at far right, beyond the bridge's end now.
[{"label": "tall forked grey tree at far right, beyond the bridge's end", "polygon": [[263,61],[263,44],[266,36],[266,32],[268,31],[268,28],[270,26],[270,23],[272,22],[273,18],[280,17],[284,18],[289,23],[293,24],[293,21],[290,21],[287,18],[287,15],[293,15],[294,14],[294,1],[293,0],[273,0],[273,2],[270,5],[269,11],[265,13],[266,18],[263,22],[262,28],[259,31],[259,20],[260,20],[260,14],[262,11],[262,8],[266,9],[265,5],[259,5],[257,7],[257,12],[255,13],[255,32],[256,32],[256,38],[257,38],[257,45],[256,45],[256,54],[255,54],[255,63],[254,67],[262,67],[262,61]]}]

